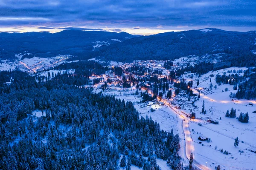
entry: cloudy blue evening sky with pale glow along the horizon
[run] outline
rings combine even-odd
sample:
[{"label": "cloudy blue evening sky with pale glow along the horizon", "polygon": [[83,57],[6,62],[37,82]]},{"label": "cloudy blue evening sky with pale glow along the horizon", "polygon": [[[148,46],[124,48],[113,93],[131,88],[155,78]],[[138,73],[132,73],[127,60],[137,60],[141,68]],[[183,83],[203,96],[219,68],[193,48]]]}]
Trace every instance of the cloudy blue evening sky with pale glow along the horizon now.
[{"label": "cloudy blue evening sky with pale glow along the horizon", "polygon": [[256,30],[256,0],[0,0],[0,32]]}]

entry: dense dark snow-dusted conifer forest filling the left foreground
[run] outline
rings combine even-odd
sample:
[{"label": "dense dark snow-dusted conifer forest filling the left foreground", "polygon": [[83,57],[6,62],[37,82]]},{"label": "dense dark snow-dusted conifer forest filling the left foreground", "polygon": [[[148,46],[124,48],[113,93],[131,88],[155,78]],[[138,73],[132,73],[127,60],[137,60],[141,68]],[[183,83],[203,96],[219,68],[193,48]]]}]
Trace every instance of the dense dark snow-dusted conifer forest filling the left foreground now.
[{"label": "dense dark snow-dusted conifer forest filling the left foreground", "polygon": [[68,83],[73,78],[0,72],[0,169],[158,170],[155,156],[182,169],[178,134],[140,118],[131,102]]}]

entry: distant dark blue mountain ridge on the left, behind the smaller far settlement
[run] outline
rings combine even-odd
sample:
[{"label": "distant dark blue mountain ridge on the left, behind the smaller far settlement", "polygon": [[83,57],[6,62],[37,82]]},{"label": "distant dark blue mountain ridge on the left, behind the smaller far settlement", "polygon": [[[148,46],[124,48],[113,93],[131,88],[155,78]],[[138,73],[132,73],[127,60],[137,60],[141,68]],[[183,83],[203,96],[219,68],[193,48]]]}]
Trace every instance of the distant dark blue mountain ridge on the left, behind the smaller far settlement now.
[{"label": "distant dark blue mountain ridge on the left, behind the smaller far settlement", "polygon": [[126,32],[65,30],[58,33],[26,32],[0,33],[0,58],[15,59],[15,54],[53,57],[79,55],[100,46],[106,46],[137,37]]}]

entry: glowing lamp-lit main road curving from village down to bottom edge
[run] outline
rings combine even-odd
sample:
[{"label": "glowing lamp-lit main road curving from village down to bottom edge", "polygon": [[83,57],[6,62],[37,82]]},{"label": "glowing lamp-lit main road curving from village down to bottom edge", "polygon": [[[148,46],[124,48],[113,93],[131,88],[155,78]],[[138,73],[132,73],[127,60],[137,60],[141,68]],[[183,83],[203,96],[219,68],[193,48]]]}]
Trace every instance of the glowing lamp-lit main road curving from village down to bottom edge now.
[{"label": "glowing lamp-lit main road curving from village down to bottom edge", "polygon": [[[185,136],[185,153],[186,153],[186,158],[189,160],[190,154],[193,153],[195,157],[195,148],[193,144],[193,139],[191,138],[191,133],[189,130],[189,118],[186,118],[186,116],[183,116],[181,113],[176,111],[172,106],[170,106],[169,103],[164,103],[166,106],[170,107],[174,112],[176,112],[178,115],[180,115],[183,118],[182,121],[182,128],[183,128],[183,133]],[[210,170],[209,167],[206,167],[205,165],[199,164],[195,159],[193,160],[193,165],[200,170]]]}]

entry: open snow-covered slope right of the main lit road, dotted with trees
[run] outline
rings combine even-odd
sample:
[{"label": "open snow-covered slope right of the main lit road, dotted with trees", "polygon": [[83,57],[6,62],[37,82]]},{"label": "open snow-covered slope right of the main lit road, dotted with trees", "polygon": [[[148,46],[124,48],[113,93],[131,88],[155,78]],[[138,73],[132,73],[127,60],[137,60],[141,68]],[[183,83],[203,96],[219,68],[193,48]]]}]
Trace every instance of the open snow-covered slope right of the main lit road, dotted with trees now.
[{"label": "open snow-covered slope right of the main lit road, dotted with trees", "polygon": [[[201,98],[195,102],[195,105],[198,107],[196,118],[200,118],[201,120],[196,119],[195,122],[190,122],[189,127],[190,130],[194,130],[192,132],[192,139],[195,147],[195,159],[201,164],[206,165],[207,162],[208,167],[211,167],[211,169],[214,169],[218,164],[221,165],[222,169],[226,170],[251,170],[253,167],[256,167],[256,153],[246,150],[248,148],[256,148],[256,113],[253,113],[256,110],[256,101],[246,99],[231,101],[229,97],[230,92],[236,93],[237,90],[233,90],[233,85],[231,86],[229,84],[218,86],[215,81],[215,75],[217,74],[229,75],[228,70],[232,74],[233,70],[238,72],[238,70],[244,71],[246,69],[245,67],[232,67],[212,71],[199,77],[197,89],[202,89],[202,91],[200,93]],[[204,90],[207,91],[209,89],[209,75],[211,74],[214,75],[212,77],[213,88],[210,90],[211,94],[203,94]],[[238,74],[243,76],[243,73]],[[190,75],[184,75],[183,78],[187,82],[193,80],[193,86],[195,88],[198,77],[194,75],[191,79],[189,78]],[[214,88],[215,85],[217,86],[216,89]],[[226,88],[228,88],[228,91],[225,91]],[[193,89],[193,92],[198,94],[198,91],[195,89]],[[207,110],[206,115],[200,113],[203,101]],[[252,102],[253,105],[249,105],[249,102]],[[230,111],[231,108],[236,109],[236,118],[225,117],[227,109]],[[238,121],[237,117],[240,112],[249,113],[249,123]],[[219,124],[210,124],[207,122],[208,119],[218,121]],[[202,126],[199,126],[198,123],[202,124]],[[211,138],[211,142],[202,141],[204,146],[199,144],[198,137],[200,134]],[[234,147],[234,138],[236,137],[240,140],[238,147]],[[225,155],[221,153],[219,151],[221,149],[223,149],[223,152],[226,150],[230,154]]]}]

